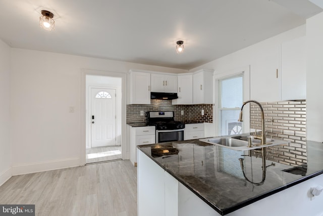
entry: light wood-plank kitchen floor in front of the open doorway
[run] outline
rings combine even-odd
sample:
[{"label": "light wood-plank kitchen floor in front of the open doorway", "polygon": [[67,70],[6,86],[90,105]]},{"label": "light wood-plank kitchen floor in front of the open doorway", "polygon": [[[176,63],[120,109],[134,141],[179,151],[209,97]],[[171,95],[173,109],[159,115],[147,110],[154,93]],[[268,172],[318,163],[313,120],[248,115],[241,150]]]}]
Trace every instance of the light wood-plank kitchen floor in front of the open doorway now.
[{"label": "light wood-plank kitchen floor in front of the open doorway", "polygon": [[137,173],[129,160],[14,176],[1,204],[35,204],[36,215],[136,216]]}]

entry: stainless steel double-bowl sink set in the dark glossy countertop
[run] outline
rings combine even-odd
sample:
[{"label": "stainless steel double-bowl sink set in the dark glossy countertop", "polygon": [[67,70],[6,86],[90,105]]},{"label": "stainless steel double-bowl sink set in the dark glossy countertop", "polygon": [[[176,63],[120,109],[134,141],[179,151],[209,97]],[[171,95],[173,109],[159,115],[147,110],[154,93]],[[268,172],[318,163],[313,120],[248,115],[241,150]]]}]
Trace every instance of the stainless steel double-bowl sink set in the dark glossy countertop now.
[{"label": "stainless steel double-bowl sink set in the dark glossy countertop", "polygon": [[[248,147],[248,138],[251,137],[252,147]],[[261,147],[275,146],[287,144],[289,141],[275,140],[271,138],[266,138],[266,144],[260,145],[260,140],[254,138],[251,135],[241,135],[241,136],[230,136],[230,137],[213,137],[200,139],[200,141],[205,143],[210,143],[218,146],[222,146],[229,149],[234,149],[237,151],[245,151],[251,149],[258,149]]]}]

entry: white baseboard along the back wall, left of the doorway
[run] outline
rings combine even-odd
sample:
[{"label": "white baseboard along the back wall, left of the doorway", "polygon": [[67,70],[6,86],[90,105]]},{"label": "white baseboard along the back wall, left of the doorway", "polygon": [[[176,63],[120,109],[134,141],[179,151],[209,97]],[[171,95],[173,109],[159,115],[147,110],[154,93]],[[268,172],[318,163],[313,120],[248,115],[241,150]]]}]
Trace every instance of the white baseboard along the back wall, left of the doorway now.
[{"label": "white baseboard along the back wall, left of the doorway", "polygon": [[12,175],[23,175],[23,174],[30,174],[34,172],[40,171],[48,171],[54,169],[63,169],[69,168],[74,166],[80,166],[80,158],[68,158],[64,160],[54,160],[54,161],[46,161],[40,163],[30,163],[30,164],[23,164],[17,165],[12,167]]}]

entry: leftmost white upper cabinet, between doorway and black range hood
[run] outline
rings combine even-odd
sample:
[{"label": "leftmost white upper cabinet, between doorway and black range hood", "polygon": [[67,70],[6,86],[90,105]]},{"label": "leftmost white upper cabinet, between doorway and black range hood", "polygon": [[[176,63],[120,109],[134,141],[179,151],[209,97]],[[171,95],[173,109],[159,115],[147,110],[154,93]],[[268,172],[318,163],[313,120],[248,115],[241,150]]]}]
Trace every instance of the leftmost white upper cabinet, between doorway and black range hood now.
[{"label": "leftmost white upper cabinet, between doorway and black range hood", "polygon": [[129,104],[150,104],[150,73],[130,70]]}]

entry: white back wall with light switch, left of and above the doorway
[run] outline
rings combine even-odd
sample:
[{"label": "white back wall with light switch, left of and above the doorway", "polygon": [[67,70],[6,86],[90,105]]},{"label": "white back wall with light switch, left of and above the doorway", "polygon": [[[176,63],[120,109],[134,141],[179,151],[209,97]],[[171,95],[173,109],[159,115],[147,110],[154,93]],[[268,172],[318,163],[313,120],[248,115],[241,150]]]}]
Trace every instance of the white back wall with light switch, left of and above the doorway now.
[{"label": "white back wall with light switch, left of and above the doorway", "polygon": [[[81,164],[82,68],[187,72],[23,49],[12,49],[11,63],[13,175]],[[74,113],[69,112],[70,106],[75,107]]]}]

